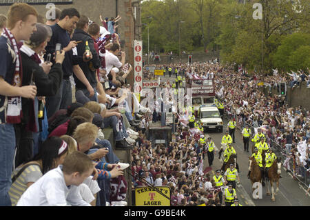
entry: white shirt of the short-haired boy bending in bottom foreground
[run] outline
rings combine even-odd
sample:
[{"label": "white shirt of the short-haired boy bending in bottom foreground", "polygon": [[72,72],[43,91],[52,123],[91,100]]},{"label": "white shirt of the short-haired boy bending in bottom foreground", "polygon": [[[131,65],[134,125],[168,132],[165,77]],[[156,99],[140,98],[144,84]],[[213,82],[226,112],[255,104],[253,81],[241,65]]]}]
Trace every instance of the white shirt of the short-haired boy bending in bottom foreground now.
[{"label": "white shirt of the short-haired boy bending in bottom foreground", "polygon": [[21,196],[17,206],[90,206],[78,186],[66,186],[62,166],[50,170]]}]

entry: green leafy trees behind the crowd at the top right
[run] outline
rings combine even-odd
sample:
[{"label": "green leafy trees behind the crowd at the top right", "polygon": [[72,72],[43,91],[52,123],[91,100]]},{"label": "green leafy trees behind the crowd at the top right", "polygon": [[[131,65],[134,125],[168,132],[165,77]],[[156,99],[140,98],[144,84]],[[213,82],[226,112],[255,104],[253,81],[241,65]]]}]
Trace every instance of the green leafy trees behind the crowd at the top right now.
[{"label": "green leafy trees behind the crowd at the top right", "polygon": [[[242,63],[256,70],[262,66],[265,70],[309,66],[309,53],[306,55],[310,34],[309,0],[298,0],[298,3],[260,0],[262,20],[252,17],[254,2],[245,2],[143,1],[141,17],[152,16],[142,20],[149,28],[149,50],[178,54],[179,50],[219,49],[220,59],[225,63]],[[142,27],[144,53],[147,53],[147,26]]]}]

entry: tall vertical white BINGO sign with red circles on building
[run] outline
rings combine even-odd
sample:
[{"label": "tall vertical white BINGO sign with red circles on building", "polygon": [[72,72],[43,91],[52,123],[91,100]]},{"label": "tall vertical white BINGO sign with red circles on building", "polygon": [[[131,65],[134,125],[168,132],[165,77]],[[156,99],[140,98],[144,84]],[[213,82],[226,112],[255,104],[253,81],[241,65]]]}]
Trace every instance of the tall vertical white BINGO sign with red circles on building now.
[{"label": "tall vertical white BINGO sign with red circles on building", "polygon": [[134,92],[142,90],[142,69],[142,41],[134,41]]}]

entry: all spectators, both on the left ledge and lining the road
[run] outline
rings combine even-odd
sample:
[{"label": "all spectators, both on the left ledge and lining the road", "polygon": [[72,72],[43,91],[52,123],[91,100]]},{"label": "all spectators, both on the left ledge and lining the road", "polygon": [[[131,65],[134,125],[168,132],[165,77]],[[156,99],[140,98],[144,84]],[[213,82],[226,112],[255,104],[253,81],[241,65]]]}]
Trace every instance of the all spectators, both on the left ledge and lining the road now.
[{"label": "all spectators, both on the left ledge and lining the road", "polygon": [[[14,3],[7,17],[0,15],[0,206],[126,206],[130,165],[133,187],[169,186],[172,206],[223,206],[223,196],[226,206],[234,199],[238,206],[227,172],[211,177],[203,168],[211,139],[194,139],[178,117],[176,139],[167,148],[147,139],[149,124],[165,124],[165,114],[158,103],[141,106],[131,93],[126,78],[132,66],[116,33],[121,17],[100,17],[99,24],[75,8],[55,14],[45,21],[33,6]],[[282,97],[265,96],[257,86],[260,80],[273,86],[280,74],[260,79],[210,62],[156,68],[183,87],[186,79],[214,79],[225,112],[241,127],[265,126],[269,140],[285,146],[288,156],[299,153],[304,175],[309,111],[288,108]],[[129,96],[140,112],[132,114]],[[132,150],[131,164],[118,159],[105,128],[112,128],[116,150]]]}]

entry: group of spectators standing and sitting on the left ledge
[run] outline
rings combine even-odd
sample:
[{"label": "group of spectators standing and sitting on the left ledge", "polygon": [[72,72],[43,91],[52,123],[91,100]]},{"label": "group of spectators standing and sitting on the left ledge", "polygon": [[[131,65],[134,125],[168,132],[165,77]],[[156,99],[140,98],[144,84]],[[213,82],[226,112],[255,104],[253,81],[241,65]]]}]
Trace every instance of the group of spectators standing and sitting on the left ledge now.
[{"label": "group of spectators standing and sitting on the left ledge", "polygon": [[132,67],[121,17],[88,16],[56,8],[46,20],[27,3],[0,16],[0,206],[126,205],[130,165],[104,133],[112,128],[117,150],[136,143]]}]

